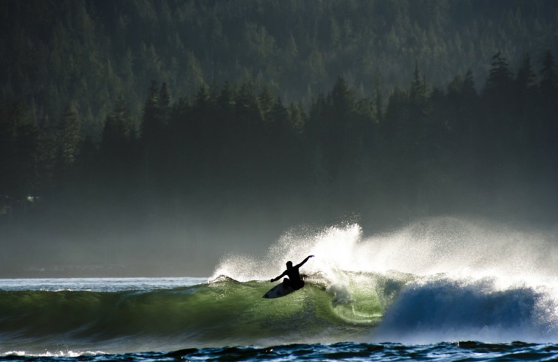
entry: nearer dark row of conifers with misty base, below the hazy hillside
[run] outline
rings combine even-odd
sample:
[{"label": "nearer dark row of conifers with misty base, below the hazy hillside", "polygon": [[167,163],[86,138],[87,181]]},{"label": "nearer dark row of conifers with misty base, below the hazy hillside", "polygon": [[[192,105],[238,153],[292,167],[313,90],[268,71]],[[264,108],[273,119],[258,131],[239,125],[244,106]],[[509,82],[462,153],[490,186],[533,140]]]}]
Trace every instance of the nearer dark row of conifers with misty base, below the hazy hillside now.
[{"label": "nearer dark row of conifers with misty base, below the hazy hillside", "polygon": [[14,102],[0,109],[0,217],[179,222],[255,210],[390,223],[525,210],[551,219],[557,68],[550,51],[538,72],[531,63],[527,54],[514,74],[498,52],[478,92],[470,71],[432,88],[416,62],[405,88],[366,97],[339,77],[308,105],[252,81],[202,84],[191,100],[152,81],[141,119],[119,97],[98,142],[80,134],[71,103],[53,125]]}]

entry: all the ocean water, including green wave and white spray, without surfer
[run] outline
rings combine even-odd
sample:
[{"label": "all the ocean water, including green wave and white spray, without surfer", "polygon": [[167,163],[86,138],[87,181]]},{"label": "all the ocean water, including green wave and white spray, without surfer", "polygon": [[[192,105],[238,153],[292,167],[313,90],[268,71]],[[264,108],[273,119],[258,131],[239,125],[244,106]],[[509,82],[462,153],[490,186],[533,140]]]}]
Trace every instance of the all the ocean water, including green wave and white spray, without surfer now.
[{"label": "all the ocean water, including green wave and white spray, without surfer", "polygon": [[[0,360],[558,361],[554,245],[436,219],[293,230],[207,278],[0,280]],[[262,298],[310,254],[303,289]]]}]

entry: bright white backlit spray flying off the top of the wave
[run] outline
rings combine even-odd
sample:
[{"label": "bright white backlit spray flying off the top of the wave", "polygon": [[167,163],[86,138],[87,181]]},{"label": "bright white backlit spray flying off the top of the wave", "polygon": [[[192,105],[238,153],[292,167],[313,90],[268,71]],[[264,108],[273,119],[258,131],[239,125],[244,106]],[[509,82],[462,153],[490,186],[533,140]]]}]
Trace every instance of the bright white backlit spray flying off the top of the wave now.
[{"label": "bright white backlit spray flying off the top of the wave", "polygon": [[239,281],[265,280],[306,255],[315,255],[303,269],[333,276],[335,270],[398,272],[418,275],[555,277],[557,235],[525,232],[485,221],[451,217],[425,219],[393,233],[363,237],[357,224],[323,230],[292,230],[273,244],[267,255],[226,255],[213,277]]}]

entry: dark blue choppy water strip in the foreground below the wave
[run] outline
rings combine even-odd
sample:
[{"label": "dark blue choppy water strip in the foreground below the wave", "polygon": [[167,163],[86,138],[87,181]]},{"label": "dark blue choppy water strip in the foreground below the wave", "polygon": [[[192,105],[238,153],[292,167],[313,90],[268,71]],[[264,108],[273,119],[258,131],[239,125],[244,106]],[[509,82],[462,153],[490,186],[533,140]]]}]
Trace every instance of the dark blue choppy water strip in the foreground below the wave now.
[{"label": "dark blue choppy water strip in the foreground below the wave", "polygon": [[271,347],[214,347],[174,352],[66,354],[64,356],[3,356],[1,361],[558,361],[558,345],[477,342],[401,345],[335,343]]}]

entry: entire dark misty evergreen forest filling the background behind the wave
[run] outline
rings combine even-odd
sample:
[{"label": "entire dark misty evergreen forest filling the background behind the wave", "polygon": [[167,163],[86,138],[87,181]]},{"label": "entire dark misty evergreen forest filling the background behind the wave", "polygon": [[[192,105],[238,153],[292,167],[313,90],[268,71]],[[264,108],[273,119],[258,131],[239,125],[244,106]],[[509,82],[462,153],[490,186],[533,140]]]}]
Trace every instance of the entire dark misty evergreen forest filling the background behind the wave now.
[{"label": "entire dark misty evergreen forest filling the background behind the wave", "polygon": [[558,216],[553,1],[0,10],[6,235]]}]

